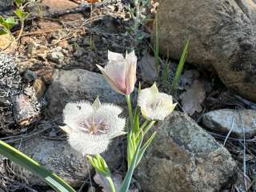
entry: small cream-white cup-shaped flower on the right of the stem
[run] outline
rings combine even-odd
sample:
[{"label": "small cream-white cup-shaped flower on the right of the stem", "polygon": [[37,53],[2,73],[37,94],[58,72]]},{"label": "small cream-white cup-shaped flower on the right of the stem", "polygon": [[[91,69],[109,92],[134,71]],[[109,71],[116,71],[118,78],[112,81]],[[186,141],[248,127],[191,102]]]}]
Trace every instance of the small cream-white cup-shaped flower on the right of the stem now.
[{"label": "small cream-white cup-shaped flower on the right of the stem", "polygon": [[150,88],[141,90],[138,95],[138,106],[143,117],[149,120],[163,120],[174,110],[176,104],[171,95],[159,93],[155,83]]}]

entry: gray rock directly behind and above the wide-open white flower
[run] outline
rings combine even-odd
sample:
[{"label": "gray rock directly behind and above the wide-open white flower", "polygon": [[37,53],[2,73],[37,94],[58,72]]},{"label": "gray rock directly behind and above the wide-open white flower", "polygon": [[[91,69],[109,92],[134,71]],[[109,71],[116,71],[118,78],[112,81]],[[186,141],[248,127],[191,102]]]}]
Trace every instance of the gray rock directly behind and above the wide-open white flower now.
[{"label": "gray rock directly behind and above the wide-open white flower", "polygon": [[99,96],[101,102],[112,102],[119,106],[126,106],[123,95],[110,88],[102,77],[88,70],[56,70],[52,82],[46,92],[49,102],[48,109],[54,117],[62,114],[67,102],[94,99]]}]

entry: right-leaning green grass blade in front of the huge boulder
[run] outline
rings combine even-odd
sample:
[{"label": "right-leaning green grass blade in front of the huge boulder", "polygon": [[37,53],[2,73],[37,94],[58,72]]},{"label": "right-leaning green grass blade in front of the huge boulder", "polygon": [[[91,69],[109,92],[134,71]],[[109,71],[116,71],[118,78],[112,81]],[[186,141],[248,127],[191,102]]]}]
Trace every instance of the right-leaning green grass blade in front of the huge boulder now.
[{"label": "right-leaning green grass blade in front of the huge boulder", "polygon": [[172,83],[172,90],[177,90],[178,81],[179,81],[179,78],[181,77],[183,66],[186,62],[186,57],[187,57],[187,54],[188,54],[189,45],[190,45],[190,38],[187,39],[186,45],[185,45],[185,47],[182,51],[182,57],[179,60],[178,68],[175,72],[174,81]]}]

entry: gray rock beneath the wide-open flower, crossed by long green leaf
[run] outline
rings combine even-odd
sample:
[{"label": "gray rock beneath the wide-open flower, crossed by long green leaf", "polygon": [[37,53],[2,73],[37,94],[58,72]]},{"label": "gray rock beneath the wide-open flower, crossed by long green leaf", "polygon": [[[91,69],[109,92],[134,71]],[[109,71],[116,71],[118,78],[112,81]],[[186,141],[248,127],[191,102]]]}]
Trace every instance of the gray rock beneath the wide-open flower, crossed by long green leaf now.
[{"label": "gray rock beneath the wide-open flower, crossed by long green leaf", "polygon": [[[102,154],[110,170],[116,170],[122,163],[122,150],[119,145],[120,140],[114,139],[110,144],[110,150]],[[38,136],[22,142],[16,147],[74,187],[81,186],[86,180],[89,173],[88,166],[90,167],[90,173],[94,173],[90,162],[88,161],[87,166],[86,158],[71,148],[67,141],[50,140]],[[17,170],[17,166],[14,166],[14,170]],[[22,176],[31,185],[46,186],[45,182],[28,170],[21,169],[21,171]]]}]

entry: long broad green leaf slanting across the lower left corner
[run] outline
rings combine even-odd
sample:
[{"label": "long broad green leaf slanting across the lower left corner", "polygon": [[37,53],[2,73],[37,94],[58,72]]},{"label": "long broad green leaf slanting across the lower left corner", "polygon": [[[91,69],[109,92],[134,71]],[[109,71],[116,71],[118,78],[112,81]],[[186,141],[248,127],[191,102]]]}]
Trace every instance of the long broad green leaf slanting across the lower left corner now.
[{"label": "long broad green leaf slanting across the lower left corner", "polygon": [[50,170],[46,170],[45,167],[40,166],[38,162],[35,162],[32,158],[26,156],[21,151],[14,149],[14,147],[2,142],[0,140],[0,154],[9,158],[11,161],[17,163],[19,166],[24,167],[26,170],[30,170],[33,174],[37,175],[49,186],[58,192],[75,192],[75,190],[69,186],[62,178],[59,178],[56,174]]}]

